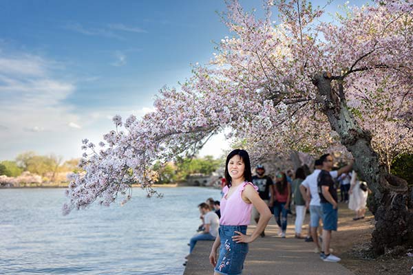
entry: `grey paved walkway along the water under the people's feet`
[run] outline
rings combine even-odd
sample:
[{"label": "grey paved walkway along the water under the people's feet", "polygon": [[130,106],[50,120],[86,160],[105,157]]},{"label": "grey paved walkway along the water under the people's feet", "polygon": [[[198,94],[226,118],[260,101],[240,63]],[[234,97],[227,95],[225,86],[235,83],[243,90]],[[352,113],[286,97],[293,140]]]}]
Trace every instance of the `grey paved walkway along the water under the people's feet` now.
[{"label": "grey paved walkway along the water under the people's feet", "polygon": [[[290,216],[291,217],[291,216]],[[293,219],[290,219],[293,223]],[[248,234],[255,225],[248,227]],[[295,239],[290,225],[287,238],[277,236],[274,218],[266,228],[266,236],[258,238],[249,246],[244,264],[243,275],[352,275],[350,270],[339,263],[326,263],[313,252],[314,244],[302,239]],[[199,241],[189,256],[184,275],[212,275],[213,267],[209,263],[212,241]],[[334,234],[332,237],[334,248]]]}]

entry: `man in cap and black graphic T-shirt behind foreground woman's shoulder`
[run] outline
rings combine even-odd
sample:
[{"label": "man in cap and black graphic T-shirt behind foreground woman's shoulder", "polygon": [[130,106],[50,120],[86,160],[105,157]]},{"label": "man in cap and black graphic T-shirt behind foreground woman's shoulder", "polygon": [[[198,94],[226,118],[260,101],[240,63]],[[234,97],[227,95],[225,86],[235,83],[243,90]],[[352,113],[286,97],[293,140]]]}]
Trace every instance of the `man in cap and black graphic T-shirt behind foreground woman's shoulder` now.
[{"label": "man in cap and black graphic T-shirt behind foreground woman's shoulder", "polygon": [[[260,195],[260,198],[272,208],[273,205],[270,203],[270,197],[274,197],[272,188],[273,180],[271,177],[268,177],[268,175],[264,175],[265,168],[261,164],[257,165],[255,173],[257,173],[257,175],[253,176],[253,184],[258,187],[258,195]],[[256,223],[260,220],[260,212],[258,212],[255,206],[253,206],[253,219]],[[265,230],[261,232],[262,237],[265,236],[264,231]]]}]

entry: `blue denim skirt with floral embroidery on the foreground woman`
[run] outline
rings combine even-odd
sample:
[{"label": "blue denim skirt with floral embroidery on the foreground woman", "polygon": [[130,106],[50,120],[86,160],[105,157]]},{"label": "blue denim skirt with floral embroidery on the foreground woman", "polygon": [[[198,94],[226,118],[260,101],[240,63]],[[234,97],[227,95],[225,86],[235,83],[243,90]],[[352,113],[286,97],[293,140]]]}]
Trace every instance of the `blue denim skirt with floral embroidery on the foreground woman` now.
[{"label": "blue denim skirt with floral embroidery on the foreground woman", "polygon": [[242,274],[248,243],[235,243],[232,239],[236,235],[234,231],[246,234],[246,225],[220,225],[220,256],[214,269],[218,274]]}]

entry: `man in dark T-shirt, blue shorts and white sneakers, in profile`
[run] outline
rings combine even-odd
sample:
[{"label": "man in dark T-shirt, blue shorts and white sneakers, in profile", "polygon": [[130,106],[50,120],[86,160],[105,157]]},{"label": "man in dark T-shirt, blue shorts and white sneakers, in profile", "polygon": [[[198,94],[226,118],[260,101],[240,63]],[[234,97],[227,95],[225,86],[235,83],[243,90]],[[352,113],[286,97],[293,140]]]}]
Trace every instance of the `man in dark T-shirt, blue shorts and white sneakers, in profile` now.
[{"label": "man in dark T-shirt, blue shorts and white sneakers, in profile", "polygon": [[320,161],[323,164],[317,178],[321,210],[323,211],[323,250],[321,250],[320,258],[326,262],[338,262],[341,259],[330,253],[331,232],[337,231],[339,219],[337,188],[330,175],[332,155],[324,154],[320,157]]}]

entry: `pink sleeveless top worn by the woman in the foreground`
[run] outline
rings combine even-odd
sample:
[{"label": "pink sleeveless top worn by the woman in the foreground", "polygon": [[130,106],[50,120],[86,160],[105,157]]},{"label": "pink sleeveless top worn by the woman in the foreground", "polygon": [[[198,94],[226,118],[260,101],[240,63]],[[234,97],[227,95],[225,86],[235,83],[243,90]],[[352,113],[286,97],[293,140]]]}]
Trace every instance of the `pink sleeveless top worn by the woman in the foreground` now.
[{"label": "pink sleeveless top worn by the woman in the foreground", "polygon": [[255,190],[258,187],[253,185],[251,182],[244,181],[242,184],[237,186],[235,192],[231,194],[229,198],[226,199],[226,194],[229,191],[228,186],[222,189],[224,196],[221,199],[221,225],[248,225],[251,221],[251,210],[253,208],[252,203],[246,203],[242,200],[242,191],[247,184],[251,184]]}]

